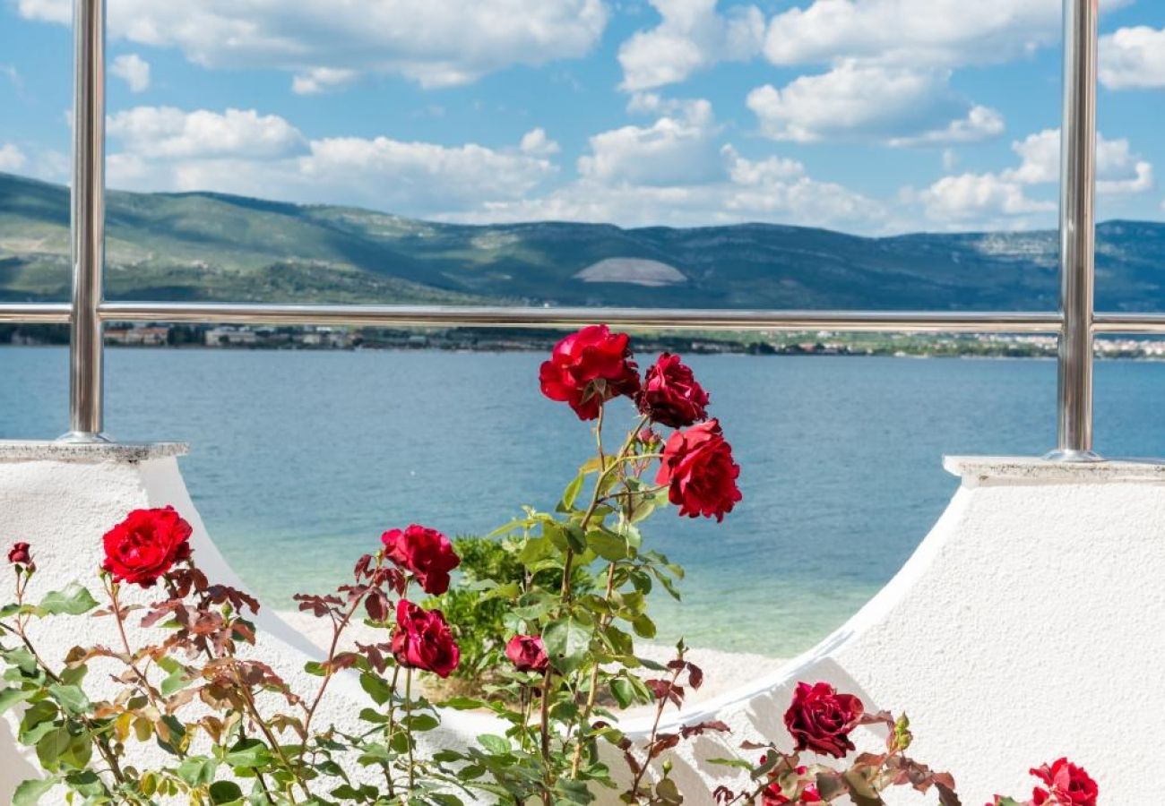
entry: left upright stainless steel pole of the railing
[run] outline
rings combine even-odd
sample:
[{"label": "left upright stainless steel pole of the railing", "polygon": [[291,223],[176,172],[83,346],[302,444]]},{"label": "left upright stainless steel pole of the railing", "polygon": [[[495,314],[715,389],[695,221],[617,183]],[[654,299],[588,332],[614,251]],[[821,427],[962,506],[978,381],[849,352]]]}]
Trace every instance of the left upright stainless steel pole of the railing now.
[{"label": "left upright stainless steel pole of the railing", "polygon": [[73,42],[70,431],[62,439],[106,441],[98,313],[105,268],[105,0],[75,0]]}]

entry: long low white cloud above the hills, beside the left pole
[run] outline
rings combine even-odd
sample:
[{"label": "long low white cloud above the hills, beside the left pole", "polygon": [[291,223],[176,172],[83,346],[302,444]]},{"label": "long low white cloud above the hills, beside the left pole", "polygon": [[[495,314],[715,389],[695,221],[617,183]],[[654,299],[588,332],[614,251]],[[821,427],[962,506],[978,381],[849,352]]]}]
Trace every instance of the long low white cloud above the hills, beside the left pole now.
[{"label": "long low white cloud above the hills, beside the left pole", "polygon": [[[214,190],[415,215],[521,198],[557,170],[545,156],[521,147],[389,137],[308,141],[287,120],[254,109],[137,107],[113,115],[108,130],[121,146],[108,157],[114,186]],[[542,149],[548,147],[544,140]]]}]

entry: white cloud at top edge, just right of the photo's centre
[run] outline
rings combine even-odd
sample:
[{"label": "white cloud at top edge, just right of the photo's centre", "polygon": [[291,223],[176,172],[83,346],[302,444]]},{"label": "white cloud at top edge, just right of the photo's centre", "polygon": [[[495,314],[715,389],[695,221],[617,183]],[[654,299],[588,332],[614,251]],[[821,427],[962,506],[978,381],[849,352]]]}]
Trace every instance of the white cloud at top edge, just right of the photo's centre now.
[{"label": "white cloud at top edge, just right of the photo's centre", "polygon": [[649,0],[658,26],[623,42],[623,90],[640,92],[683,82],[718,62],[748,61],[761,51],[764,15],[756,6],[716,12],[716,0]]}]

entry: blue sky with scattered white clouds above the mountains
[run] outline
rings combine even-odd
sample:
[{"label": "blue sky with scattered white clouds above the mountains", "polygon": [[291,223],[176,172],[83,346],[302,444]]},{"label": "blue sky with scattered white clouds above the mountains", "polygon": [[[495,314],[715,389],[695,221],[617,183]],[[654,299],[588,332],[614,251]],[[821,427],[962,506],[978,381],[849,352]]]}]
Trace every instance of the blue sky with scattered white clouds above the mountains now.
[{"label": "blue sky with scattered white clouds above the mountains", "polygon": [[[1060,0],[107,0],[111,188],[486,224],[1054,226]],[[71,0],[0,0],[66,182]],[[1165,220],[1165,2],[1101,0],[1100,219]]]}]

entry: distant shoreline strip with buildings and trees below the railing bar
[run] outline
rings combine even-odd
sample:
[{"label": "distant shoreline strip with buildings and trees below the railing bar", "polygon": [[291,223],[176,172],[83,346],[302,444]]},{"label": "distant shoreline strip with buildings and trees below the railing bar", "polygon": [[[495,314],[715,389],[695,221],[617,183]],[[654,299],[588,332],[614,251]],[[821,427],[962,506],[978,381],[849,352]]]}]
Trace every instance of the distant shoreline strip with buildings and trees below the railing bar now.
[{"label": "distant shoreline strip with buildings and trees below the railing bar", "polygon": [[[545,352],[560,331],[524,328],[393,330],[379,327],[246,327],[211,325],[141,325],[112,323],[108,347],[172,349],[439,349],[452,352]],[[0,345],[68,345],[63,326],[0,325]],[[885,334],[814,332],[665,331],[635,334],[638,352],[743,355],[878,355],[901,358],[1055,358],[1052,335]],[[1165,360],[1165,340],[1102,338],[1099,358]]]}]

